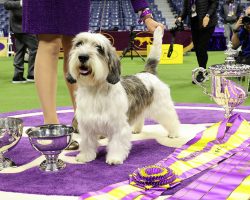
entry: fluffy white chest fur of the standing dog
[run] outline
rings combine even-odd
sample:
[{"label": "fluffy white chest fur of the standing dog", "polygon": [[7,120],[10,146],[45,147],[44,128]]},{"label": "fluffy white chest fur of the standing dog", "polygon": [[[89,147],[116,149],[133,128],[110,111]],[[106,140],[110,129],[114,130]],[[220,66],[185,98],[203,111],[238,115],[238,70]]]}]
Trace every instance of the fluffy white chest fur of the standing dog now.
[{"label": "fluffy white chest fur of the standing dog", "polygon": [[95,93],[78,89],[76,104],[78,123],[84,123],[88,127],[102,127],[117,123],[119,117],[126,117],[128,110],[124,90],[117,91],[115,88]]}]

